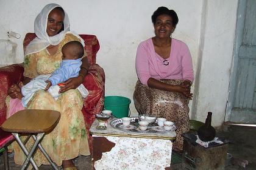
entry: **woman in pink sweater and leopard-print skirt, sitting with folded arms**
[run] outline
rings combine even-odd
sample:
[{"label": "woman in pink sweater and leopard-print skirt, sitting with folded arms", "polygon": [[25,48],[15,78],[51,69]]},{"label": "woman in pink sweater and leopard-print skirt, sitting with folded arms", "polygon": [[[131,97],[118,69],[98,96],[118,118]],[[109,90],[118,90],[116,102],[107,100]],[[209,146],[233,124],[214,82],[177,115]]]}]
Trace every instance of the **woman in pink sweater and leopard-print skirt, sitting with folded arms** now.
[{"label": "woman in pink sweater and leopard-print skirt, sitting with folded arms", "polygon": [[159,7],[152,15],[155,36],[140,43],[136,56],[138,81],[133,94],[138,112],[163,117],[177,126],[174,149],[182,150],[188,132],[193,67],[188,46],[171,38],[179,19],[174,10]]}]

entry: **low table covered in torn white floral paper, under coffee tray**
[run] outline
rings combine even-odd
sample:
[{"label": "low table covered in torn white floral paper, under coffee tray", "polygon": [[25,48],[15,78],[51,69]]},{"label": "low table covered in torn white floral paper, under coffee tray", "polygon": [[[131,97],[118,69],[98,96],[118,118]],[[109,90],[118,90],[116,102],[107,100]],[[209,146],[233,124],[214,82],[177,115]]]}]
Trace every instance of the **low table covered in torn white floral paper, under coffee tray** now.
[{"label": "low table covered in torn white floral paper, under coffee tray", "polygon": [[93,135],[95,169],[165,169],[171,164],[172,141],[175,131],[139,134],[115,129],[108,120],[107,130],[98,130],[96,119]]}]

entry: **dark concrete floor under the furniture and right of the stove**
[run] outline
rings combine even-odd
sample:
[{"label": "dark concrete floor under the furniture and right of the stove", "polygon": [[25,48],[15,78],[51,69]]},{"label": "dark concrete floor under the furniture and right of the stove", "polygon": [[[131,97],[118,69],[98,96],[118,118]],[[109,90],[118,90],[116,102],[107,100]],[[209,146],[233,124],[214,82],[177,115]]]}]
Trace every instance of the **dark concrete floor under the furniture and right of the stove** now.
[{"label": "dark concrete floor under the furniture and right of the stove", "polygon": [[[256,169],[256,127],[247,126],[229,126],[225,125],[218,131],[219,137],[225,137],[230,140],[229,153],[236,160],[247,160],[249,162],[246,168],[238,165],[227,166],[227,170],[235,169]],[[10,169],[18,170],[21,166],[15,165],[13,155],[9,158]],[[80,156],[75,160],[78,169],[91,169],[91,157]],[[3,157],[0,156],[0,169],[4,169]],[[51,166],[44,165],[40,170],[52,169]],[[182,169],[180,164],[172,165],[172,170]],[[146,169],[145,169],[146,170]]]}]

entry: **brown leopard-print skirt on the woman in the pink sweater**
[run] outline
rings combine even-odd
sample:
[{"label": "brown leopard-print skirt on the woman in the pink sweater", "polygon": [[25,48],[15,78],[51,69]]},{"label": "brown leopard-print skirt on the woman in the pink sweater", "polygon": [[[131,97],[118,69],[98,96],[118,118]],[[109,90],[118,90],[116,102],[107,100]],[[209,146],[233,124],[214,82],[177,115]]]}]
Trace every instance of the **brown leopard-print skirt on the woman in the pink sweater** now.
[{"label": "brown leopard-print skirt on the woman in the pink sweater", "polygon": [[[178,85],[183,80],[160,80],[163,83]],[[164,90],[153,89],[137,81],[133,100],[138,112],[153,115],[154,117],[163,117],[168,121],[173,121],[176,126],[176,141],[174,148],[182,150],[182,134],[190,130],[189,121],[189,100],[177,92],[167,92]]]}]

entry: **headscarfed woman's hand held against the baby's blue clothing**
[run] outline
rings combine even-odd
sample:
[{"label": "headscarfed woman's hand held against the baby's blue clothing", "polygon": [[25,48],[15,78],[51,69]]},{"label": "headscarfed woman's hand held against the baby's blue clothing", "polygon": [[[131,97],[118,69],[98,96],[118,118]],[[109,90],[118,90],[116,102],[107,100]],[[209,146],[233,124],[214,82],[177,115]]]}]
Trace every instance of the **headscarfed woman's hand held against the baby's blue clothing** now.
[{"label": "headscarfed woman's hand held against the baby's blue clothing", "polygon": [[78,77],[69,78],[67,81],[63,82],[65,86],[60,87],[59,93],[66,92],[70,89],[76,89],[83,82],[84,77],[82,75],[79,75]]}]

